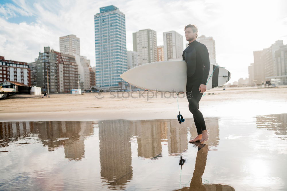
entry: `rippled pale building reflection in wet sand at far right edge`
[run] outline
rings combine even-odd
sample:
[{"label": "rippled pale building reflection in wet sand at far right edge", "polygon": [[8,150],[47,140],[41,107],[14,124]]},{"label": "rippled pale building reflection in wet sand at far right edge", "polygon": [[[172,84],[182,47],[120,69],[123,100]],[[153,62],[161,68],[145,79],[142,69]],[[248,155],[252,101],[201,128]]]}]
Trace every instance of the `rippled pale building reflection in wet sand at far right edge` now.
[{"label": "rippled pale building reflection in wet sand at far right edge", "polygon": [[[272,130],[276,135],[286,135],[287,113],[263,115],[256,117],[257,128]],[[285,137],[280,137],[286,139]]]}]

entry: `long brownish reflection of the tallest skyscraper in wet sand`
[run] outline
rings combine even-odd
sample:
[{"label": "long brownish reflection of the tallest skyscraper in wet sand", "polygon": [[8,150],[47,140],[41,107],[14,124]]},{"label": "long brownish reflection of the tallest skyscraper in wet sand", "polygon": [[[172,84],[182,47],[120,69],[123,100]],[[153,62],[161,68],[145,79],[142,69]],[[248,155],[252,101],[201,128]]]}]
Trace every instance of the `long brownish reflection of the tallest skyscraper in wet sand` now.
[{"label": "long brownish reflection of the tallest skyscraper in wet sand", "polygon": [[129,122],[102,121],[98,125],[102,181],[110,189],[123,189],[133,176]]}]

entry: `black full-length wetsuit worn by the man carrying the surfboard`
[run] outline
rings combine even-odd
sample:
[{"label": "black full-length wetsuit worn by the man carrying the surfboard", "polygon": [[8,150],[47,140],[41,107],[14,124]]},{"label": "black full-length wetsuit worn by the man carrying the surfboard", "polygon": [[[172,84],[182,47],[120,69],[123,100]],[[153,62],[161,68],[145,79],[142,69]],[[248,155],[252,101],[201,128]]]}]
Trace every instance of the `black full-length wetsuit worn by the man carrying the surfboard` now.
[{"label": "black full-length wetsuit worn by the man carrying the surfboard", "polygon": [[188,108],[193,114],[197,134],[199,135],[206,129],[203,115],[199,111],[199,101],[203,95],[199,91],[199,86],[207,83],[210,61],[208,50],[204,44],[195,40],[188,45],[182,56],[187,66],[186,96],[189,102]]}]

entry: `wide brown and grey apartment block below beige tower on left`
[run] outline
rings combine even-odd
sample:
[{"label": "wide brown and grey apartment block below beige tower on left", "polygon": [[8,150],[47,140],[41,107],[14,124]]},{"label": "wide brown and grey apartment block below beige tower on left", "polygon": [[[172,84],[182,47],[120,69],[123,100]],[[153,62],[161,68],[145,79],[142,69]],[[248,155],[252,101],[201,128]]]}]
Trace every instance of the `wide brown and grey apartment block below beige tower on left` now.
[{"label": "wide brown and grey apartment block below beige tower on left", "polygon": [[75,56],[44,47],[36,63],[36,86],[42,91],[69,92],[78,88],[78,68]]}]

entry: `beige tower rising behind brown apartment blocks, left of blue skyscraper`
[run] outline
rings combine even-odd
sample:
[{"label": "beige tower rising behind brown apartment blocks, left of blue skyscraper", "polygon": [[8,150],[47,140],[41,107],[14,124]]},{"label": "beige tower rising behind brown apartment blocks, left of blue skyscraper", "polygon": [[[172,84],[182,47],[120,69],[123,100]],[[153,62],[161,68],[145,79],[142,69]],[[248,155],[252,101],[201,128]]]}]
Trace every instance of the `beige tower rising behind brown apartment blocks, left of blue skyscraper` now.
[{"label": "beige tower rising behind brown apartment blocks, left of blue skyscraper", "polygon": [[80,55],[80,39],[73,34],[60,37],[60,52]]}]

